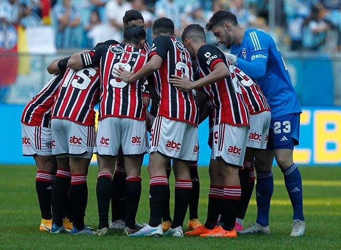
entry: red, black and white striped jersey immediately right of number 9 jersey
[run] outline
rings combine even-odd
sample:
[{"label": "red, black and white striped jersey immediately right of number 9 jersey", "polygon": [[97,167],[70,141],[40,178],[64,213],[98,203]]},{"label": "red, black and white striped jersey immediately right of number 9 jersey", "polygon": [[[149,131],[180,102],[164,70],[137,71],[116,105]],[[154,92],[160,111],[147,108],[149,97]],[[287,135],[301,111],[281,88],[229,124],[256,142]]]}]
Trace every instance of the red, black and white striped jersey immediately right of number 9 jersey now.
[{"label": "red, black and white striped jersey immediately right of number 9 jersey", "polygon": [[181,91],[169,82],[172,74],[181,76],[184,73],[188,78],[193,78],[188,51],[175,38],[159,36],[154,39],[149,52],[150,58],[153,55],[159,55],[163,60],[161,67],[154,72],[155,88],[160,99],[158,115],[197,126],[199,115],[195,92]]}]

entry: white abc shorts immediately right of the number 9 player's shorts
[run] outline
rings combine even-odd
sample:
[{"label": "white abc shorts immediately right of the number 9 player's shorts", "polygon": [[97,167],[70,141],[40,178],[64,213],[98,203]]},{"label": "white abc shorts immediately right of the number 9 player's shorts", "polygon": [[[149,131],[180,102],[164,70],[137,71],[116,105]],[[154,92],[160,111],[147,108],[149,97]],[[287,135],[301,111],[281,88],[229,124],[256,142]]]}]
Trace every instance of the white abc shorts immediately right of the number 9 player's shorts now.
[{"label": "white abc shorts immediately right of the number 9 player's shorts", "polygon": [[157,151],[174,159],[198,160],[197,128],[186,122],[157,116],[151,130],[149,152]]}]

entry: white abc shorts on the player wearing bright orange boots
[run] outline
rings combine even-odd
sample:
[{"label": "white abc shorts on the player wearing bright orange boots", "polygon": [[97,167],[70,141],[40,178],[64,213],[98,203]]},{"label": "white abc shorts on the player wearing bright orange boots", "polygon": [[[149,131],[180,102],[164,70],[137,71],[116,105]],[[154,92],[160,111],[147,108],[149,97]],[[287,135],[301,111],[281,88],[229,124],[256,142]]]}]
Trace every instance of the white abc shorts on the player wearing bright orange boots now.
[{"label": "white abc shorts on the player wearing bright orange boots", "polygon": [[214,125],[214,157],[222,157],[229,164],[242,166],[249,134],[248,126],[227,123]]}]

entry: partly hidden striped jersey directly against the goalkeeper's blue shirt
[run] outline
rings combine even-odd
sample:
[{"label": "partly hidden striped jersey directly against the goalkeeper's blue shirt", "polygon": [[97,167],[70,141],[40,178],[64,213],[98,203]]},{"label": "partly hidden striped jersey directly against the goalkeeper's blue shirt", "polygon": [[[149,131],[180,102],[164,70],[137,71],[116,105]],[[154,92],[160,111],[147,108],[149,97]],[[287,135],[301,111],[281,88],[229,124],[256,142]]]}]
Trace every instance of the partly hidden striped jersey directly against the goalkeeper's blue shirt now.
[{"label": "partly hidden striped jersey directly against the goalkeeper's blue shirt", "polygon": [[244,101],[247,105],[250,115],[255,115],[263,111],[270,111],[266,98],[260,87],[240,68],[234,67],[234,71],[241,83]]}]

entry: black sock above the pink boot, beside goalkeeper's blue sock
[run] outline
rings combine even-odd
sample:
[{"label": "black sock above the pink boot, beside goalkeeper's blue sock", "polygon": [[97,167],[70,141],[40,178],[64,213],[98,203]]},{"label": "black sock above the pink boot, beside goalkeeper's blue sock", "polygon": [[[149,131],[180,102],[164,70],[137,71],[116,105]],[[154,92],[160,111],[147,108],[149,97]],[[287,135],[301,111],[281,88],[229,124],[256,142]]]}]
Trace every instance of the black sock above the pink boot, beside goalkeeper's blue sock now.
[{"label": "black sock above the pink boot, beside goalkeeper's blue sock", "polygon": [[239,169],[239,180],[241,186],[241,196],[238,204],[237,218],[244,219],[252,190],[249,191],[249,170],[247,168]]}]

